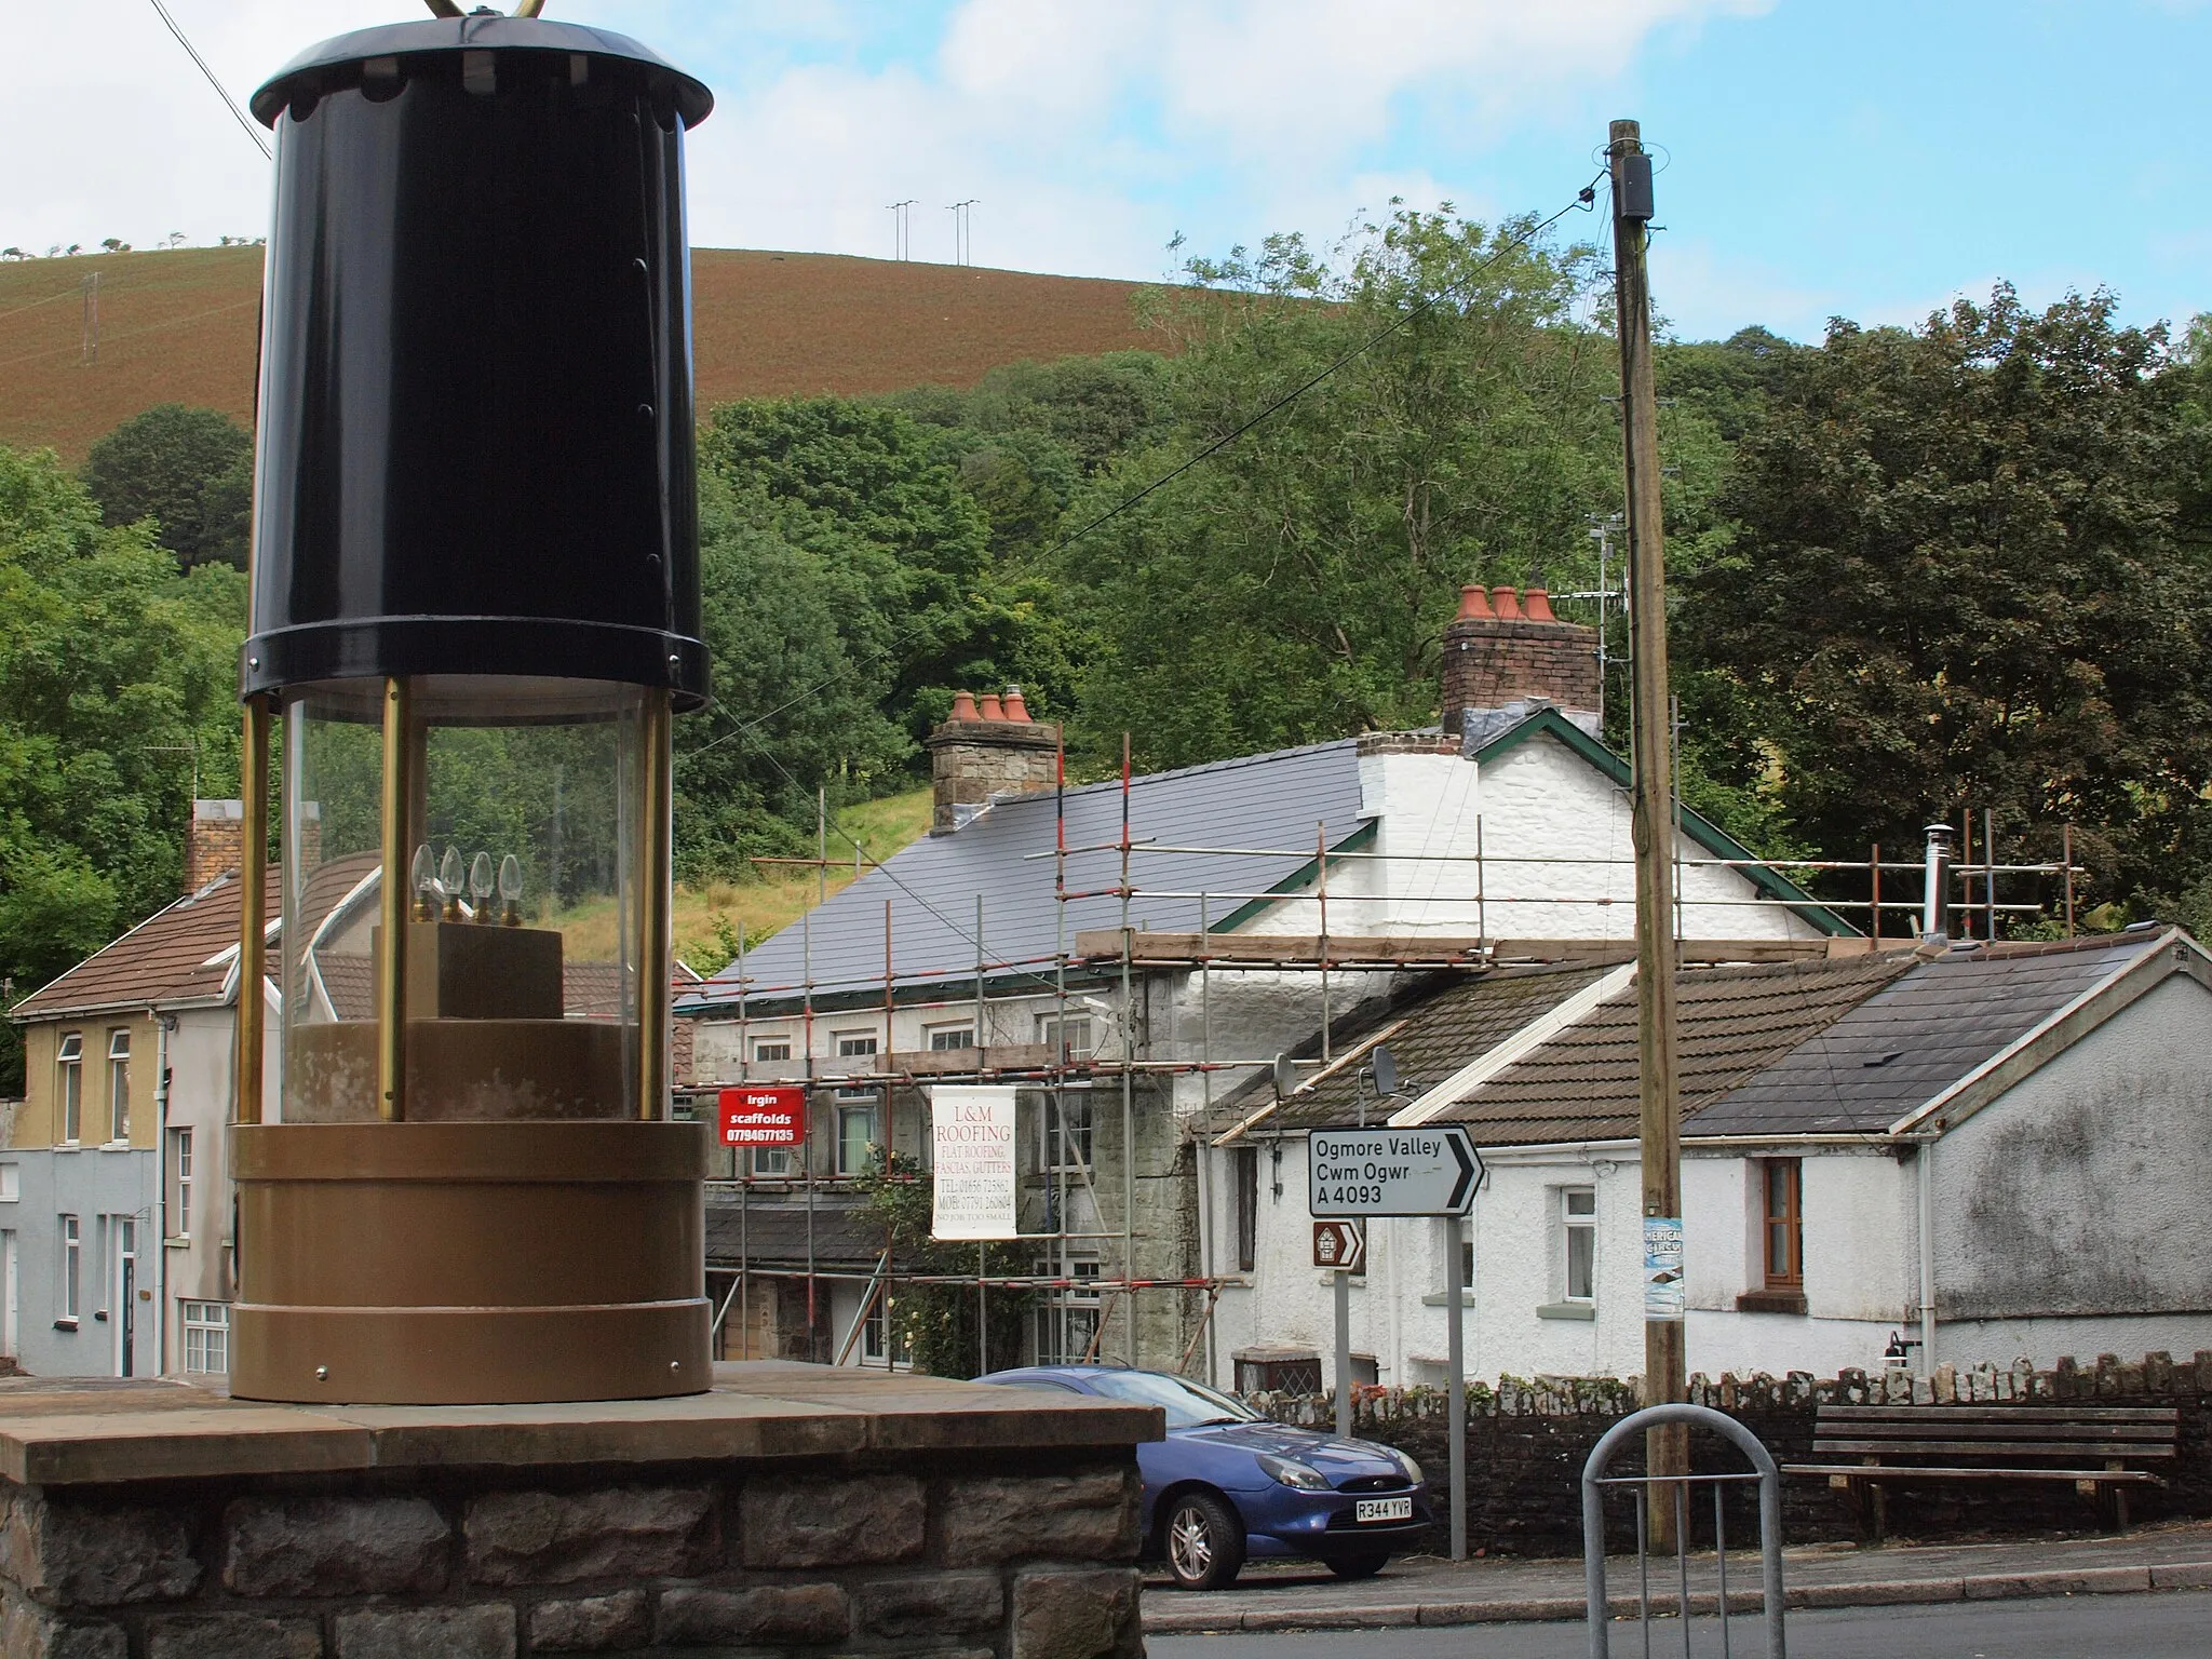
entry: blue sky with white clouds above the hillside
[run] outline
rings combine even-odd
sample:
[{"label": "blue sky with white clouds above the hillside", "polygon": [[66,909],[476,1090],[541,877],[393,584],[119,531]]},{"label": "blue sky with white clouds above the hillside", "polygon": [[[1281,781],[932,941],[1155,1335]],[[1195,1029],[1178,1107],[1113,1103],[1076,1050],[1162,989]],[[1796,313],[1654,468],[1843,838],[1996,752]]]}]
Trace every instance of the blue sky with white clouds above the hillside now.
[{"label": "blue sky with white clouds above the hillside", "polygon": [[[170,0],[243,93],[407,0]],[[1652,274],[1686,336],[1913,321],[2015,281],[2212,310],[2190,119],[2205,0],[553,0],[714,86],[699,243],[1159,276],[1166,243],[1334,241],[1391,195],[1566,201],[1606,119],[1666,150]],[[268,173],[144,0],[22,7],[0,243],[259,232]],[[20,91],[20,95],[15,95]],[[1599,223],[1582,221],[1595,234]]]}]

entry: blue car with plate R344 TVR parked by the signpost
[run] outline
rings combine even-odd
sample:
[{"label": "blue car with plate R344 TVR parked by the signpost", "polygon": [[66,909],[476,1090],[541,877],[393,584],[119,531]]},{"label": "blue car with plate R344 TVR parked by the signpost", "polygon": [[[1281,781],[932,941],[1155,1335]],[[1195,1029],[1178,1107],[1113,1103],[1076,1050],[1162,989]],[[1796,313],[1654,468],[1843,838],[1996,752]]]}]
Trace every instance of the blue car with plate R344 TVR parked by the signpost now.
[{"label": "blue car with plate R344 TVR parked by the signpost", "polygon": [[1363,1579],[1429,1526],[1429,1489],[1402,1451],[1267,1422],[1181,1376],[1029,1365],[982,1380],[1166,1409],[1168,1438],[1137,1447],[1144,1553],[1186,1590],[1234,1584],[1248,1557],[1305,1557]]}]

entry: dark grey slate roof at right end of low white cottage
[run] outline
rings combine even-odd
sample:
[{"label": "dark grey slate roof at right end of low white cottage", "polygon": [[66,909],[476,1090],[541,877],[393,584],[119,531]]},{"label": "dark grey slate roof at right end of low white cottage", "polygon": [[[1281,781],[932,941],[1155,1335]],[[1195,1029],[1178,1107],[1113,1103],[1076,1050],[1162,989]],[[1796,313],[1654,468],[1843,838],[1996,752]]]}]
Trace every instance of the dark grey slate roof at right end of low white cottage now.
[{"label": "dark grey slate roof at right end of low white cottage", "polygon": [[1922,962],[1710,1104],[1688,1133],[1887,1130],[2157,942],[2146,929]]}]

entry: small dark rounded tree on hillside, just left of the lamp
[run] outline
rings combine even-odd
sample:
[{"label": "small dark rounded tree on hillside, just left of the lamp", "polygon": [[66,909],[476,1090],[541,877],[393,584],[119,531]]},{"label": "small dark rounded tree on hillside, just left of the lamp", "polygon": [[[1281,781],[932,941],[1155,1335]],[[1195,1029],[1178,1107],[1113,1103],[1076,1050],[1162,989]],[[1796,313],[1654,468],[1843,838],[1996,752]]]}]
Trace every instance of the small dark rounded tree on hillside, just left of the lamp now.
[{"label": "small dark rounded tree on hillside, just left of the lamp", "polygon": [[84,482],[106,524],[155,522],[177,564],[246,568],[254,440],[217,409],[157,403],[93,445]]}]

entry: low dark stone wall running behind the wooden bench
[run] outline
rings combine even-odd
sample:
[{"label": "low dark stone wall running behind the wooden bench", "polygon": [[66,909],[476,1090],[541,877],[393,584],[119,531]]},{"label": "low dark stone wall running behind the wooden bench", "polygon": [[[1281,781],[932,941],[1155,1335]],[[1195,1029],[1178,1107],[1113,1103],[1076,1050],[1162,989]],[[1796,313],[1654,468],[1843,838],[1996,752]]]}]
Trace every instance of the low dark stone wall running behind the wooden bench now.
[{"label": "low dark stone wall running behind the wooden bench", "polygon": [[[2212,1352],[2192,1360],[2148,1354],[2124,1365],[2104,1354],[2095,1365],[2062,1358],[2037,1371],[1938,1367],[1933,1378],[1907,1371],[1843,1371],[1816,1378],[1790,1376],[1690,1378],[1690,1400],[1728,1411],[1765,1442],[1776,1462],[1812,1455],[1814,1411],[1820,1402],[1847,1405],[1991,1405],[2059,1402],[2170,1405],[2181,1411],[2181,1444],[2166,1486],[2135,1486],[2128,1511],[2135,1520],[2212,1517]],[[1332,1429],[1336,1402],[1329,1394],[1254,1394],[1250,1405],[1279,1422]],[[1491,1555],[1579,1555],[1582,1553],[1582,1464],[1599,1436],[1639,1405],[1637,1385],[1615,1378],[1533,1380],[1500,1378],[1498,1387],[1467,1387],[1467,1542]],[[1356,1433],[1409,1451],[1440,1493],[1438,1515],[1449,1515],[1444,1438],[1444,1389],[1358,1389]],[[1692,1440],[1694,1467],[1741,1469],[1741,1455],[1712,1436]],[[1615,1473],[1641,1469],[1641,1453],[1624,1453]],[[1635,1524],[1626,1504],[1613,1517],[1615,1542],[1635,1548]],[[1851,1540],[1858,1535],[1856,1502],[1825,1480],[1783,1478],[1783,1533],[1792,1544]],[[1891,1537],[1980,1537],[2002,1533],[2095,1531],[2097,1511],[2088,1498],[2057,1480],[2039,1482],[1940,1482],[1887,1489]],[[1692,1517],[1697,1537],[1710,1540],[1710,1500],[1699,1500]],[[1447,1522],[1433,1540],[1442,1548]],[[1728,1509],[1730,1540],[1756,1540],[1756,1493],[1743,1486]]]}]

